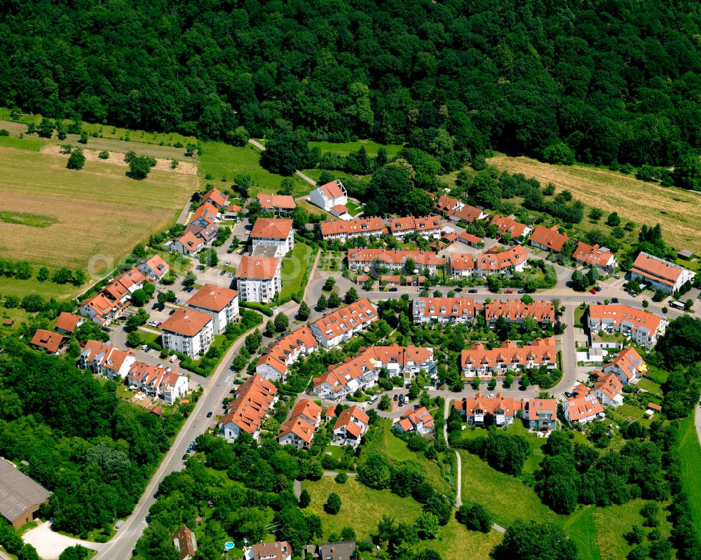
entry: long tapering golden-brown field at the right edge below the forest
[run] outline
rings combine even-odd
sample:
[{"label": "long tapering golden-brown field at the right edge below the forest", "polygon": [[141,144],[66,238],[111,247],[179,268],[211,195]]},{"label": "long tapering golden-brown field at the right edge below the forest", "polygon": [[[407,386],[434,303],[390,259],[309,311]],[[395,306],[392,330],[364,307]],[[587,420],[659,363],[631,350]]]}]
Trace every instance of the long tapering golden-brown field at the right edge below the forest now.
[{"label": "long tapering golden-brown field at the right edge below the forest", "polygon": [[543,186],[552,182],[556,192],[568,190],[585,205],[606,213],[615,210],[624,221],[660,224],[667,243],[701,252],[701,193],[646,183],[606,169],[550,165],[525,157],[495,156],[487,163],[535,177]]}]

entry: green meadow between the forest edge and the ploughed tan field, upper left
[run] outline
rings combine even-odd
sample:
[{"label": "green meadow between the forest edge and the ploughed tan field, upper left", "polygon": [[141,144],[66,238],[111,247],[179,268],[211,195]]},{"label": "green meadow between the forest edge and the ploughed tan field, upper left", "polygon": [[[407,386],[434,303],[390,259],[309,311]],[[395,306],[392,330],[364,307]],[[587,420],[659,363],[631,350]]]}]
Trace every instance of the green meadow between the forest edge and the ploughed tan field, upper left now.
[{"label": "green meadow between the forest edge and the ploughed tan field, upper left", "polygon": [[[204,142],[203,154],[200,156],[200,186],[211,183],[222,189],[233,184],[233,178],[239,173],[247,173],[253,179],[253,186],[248,191],[248,196],[254,197],[258,193],[276,193],[280,189],[280,182],[285,179],[282,175],[275,175],[261,168],[259,163],[260,150],[248,144],[237,147],[223,142]],[[209,174],[213,179],[205,179]],[[311,191],[311,185],[303,179],[293,175],[294,196],[306,195]]]}]

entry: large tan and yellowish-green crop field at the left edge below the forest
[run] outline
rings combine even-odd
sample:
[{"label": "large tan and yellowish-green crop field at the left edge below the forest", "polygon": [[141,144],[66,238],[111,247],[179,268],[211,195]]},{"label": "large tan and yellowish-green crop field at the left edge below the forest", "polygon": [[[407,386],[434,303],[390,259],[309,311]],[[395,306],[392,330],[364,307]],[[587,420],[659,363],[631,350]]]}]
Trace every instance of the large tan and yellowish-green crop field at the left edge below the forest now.
[{"label": "large tan and yellowish-green crop field at the left edge below the forest", "polygon": [[[81,171],[68,170],[66,156],[54,153],[0,147],[0,160],[0,253],[89,274],[172,224],[196,189],[196,175],[185,169],[156,168],[135,181],[122,162],[90,157]],[[7,287],[0,281],[0,292]]]}]

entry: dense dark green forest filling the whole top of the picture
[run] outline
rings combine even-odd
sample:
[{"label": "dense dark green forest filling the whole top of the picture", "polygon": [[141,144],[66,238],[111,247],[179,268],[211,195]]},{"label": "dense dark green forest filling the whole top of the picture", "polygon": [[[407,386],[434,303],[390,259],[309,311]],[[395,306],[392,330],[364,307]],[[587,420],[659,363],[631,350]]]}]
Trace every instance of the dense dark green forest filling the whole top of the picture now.
[{"label": "dense dark green forest filling the whole top of the picture", "polygon": [[701,136],[693,0],[0,5],[0,104],[53,118],[221,139],[287,121],[463,161],[672,165]]}]

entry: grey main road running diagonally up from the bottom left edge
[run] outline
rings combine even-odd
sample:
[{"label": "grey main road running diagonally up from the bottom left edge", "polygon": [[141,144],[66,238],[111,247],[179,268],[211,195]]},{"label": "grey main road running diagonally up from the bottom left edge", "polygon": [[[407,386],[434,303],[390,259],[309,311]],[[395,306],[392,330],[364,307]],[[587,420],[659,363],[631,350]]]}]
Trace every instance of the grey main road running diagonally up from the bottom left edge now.
[{"label": "grey main road running diagonally up from the bottom left edge", "polygon": [[[261,330],[262,328],[259,327]],[[158,490],[158,485],[171,472],[182,470],[184,467],[182,456],[186,453],[189,443],[198,435],[204,433],[211,425],[214,425],[215,419],[214,417],[207,418],[207,411],[213,411],[215,415],[221,411],[222,400],[229,393],[232,386],[231,378],[228,377],[228,375],[233,376],[230,369],[231,360],[245,343],[247,334],[249,333],[247,332],[241,336],[226,352],[219,367],[210,376],[208,386],[197,402],[193,413],[186,419],[177,437],[175,437],[170,451],[165,454],[161,465],[156,470],[156,474],[151,477],[134,511],[125,520],[122,528],[114,538],[107,543],[107,546],[94,556],[95,560],[128,559],[132,556],[132,550],[142,535],[144,528],[146,528],[149,509],[156,502],[154,495]]]}]

